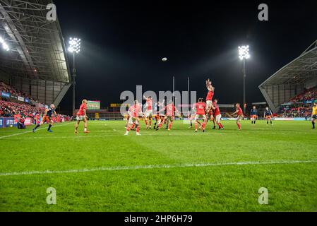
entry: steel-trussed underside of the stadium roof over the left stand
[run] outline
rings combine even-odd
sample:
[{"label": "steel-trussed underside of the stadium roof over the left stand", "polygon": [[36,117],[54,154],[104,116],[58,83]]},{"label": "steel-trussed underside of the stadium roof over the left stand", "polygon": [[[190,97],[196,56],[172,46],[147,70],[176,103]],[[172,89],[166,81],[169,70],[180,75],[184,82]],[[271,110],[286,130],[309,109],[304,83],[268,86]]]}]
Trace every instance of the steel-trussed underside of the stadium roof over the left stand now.
[{"label": "steel-trussed underside of the stadium roof over the left stand", "polygon": [[0,70],[12,76],[71,81],[59,21],[47,20],[51,0],[0,0],[0,37],[10,47],[0,50]]}]

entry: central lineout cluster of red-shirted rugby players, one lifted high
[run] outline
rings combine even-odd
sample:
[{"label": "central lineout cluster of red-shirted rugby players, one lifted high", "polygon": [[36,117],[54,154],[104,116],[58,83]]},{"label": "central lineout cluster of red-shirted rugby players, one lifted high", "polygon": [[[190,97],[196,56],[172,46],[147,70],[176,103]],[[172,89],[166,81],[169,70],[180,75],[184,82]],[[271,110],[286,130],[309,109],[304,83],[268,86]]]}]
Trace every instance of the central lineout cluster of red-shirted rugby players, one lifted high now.
[{"label": "central lineout cluster of red-shirted rugby players, one lifted high", "polygon": [[[205,132],[206,124],[208,123],[208,121],[213,122],[213,129],[216,128],[215,124],[217,124],[220,130],[225,129],[221,123],[222,115],[220,113],[219,106],[217,105],[218,101],[213,100],[215,88],[213,87],[213,84],[209,79],[206,81],[205,85],[208,90],[208,94],[205,99],[206,102],[203,101],[203,98],[199,98],[198,102],[193,105],[193,108],[188,115],[191,124],[189,128],[192,128],[194,121],[196,133],[198,132],[198,124],[199,129]],[[143,98],[146,100],[144,114],[142,111],[142,104],[140,104],[138,100],[135,100],[134,104],[128,109],[125,136],[128,136],[129,131],[131,131],[132,129],[135,129],[136,135],[140,136],[140,118],[143,118],[143,120],[145,121],[146,129],[152,129],[152,118],[154,117],[154,129],[156,131],[160,130],[163,125],[166,125],[166,129],[170,131],[172,129],[175,115],[180,116],[179,111],[174,106],[174,102],[172,100],[169,100],[166,106],[165,101],[156,102],[154,107],[154,109],[156,110],[156,114],[153,114],[152,97]],[[244,119],[244,113],[239,103],[237,103],[236,105],[236,112],[232,113],[232,116],[234,115],[237,115],[237,126],[238,129],[241,130],[241,120]]]}]

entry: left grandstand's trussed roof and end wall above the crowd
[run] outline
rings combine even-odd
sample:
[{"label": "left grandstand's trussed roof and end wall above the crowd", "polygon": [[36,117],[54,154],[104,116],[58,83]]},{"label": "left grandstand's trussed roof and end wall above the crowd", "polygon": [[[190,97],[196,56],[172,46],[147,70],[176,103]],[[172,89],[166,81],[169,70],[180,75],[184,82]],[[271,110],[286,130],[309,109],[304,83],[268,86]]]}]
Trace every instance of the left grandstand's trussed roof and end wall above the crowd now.
[{"label": "left grandstand's trussed roof and end wall above the crowd", "polygon": [[47,20],[50,0],[0,0],[0,81],[44,105],[59,105],[71,87],[59,21]]}]

